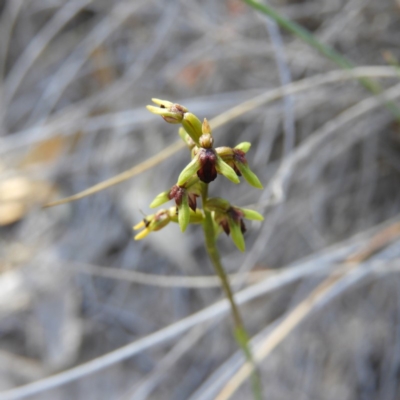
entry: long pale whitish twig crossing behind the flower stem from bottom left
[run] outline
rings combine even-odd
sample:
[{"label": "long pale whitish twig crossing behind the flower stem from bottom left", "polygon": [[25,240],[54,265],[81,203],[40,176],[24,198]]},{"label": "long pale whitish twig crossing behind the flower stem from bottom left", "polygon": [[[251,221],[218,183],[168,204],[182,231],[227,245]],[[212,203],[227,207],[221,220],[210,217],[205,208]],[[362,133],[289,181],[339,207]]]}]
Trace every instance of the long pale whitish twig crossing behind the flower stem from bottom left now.
[{"label": "long pale whitish twig crossing behind the flower stem from bottom left", "polygon": [[[393,221],[390,221],[389,223],[386,222],[385,224],[382,224],[373,230],[359,234],[356,237],[332,248],[328,248],[309,259],[293,264],[293,266],[288,268],[286,273],[282,275],[271,277],[238,292],[235,295],[237,304],[247,303],[273,290],[276,290],[277,288],[282,288],[283,286],[288,285],[298,279],[304,278],[307,275],[312,275],[316,271],[321,272],[326,270],[329,272],[329,270],[337,265],[337,263],[344,260],[350,254],[353,254],[357,248],[362,246],[366,237],[371,237],[374,232],[379,232],[384,226],[392,223]],[[168,325],[167,327],[147,335],[133,343],[95,358],[94,360],[48,378],[2,392],[0,393],[0,400],[22,399],[80,379],[84,376],[90,375],[94,372],[100,371],[113,364],[132,357],[133,355],[138,354],[139,352],[152,346],[171,340],[200,323],[225,315],[228,311],[228,302],[225,299],[218,301],[197,313]]]}]

